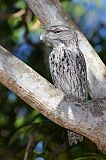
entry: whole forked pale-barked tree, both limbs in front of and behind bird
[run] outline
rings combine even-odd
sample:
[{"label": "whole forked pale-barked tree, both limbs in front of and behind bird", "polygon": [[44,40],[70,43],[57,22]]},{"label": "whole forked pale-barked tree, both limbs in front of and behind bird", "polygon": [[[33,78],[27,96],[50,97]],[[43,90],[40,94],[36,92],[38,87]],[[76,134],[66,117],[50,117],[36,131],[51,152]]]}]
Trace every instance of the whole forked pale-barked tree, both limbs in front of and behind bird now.
[{"label": "whole forked pale-barked tree, both limbs in front of and behind bird", "polygon": [[[67,24],[74,29],[57,1],[27,0],[27,3],[45,27]],[[91,95],[97,100],[74,102],[65,99],[62,91],[2,47],[0,82],[44,116],[89,138],[106,153],[106,99],[99,99],[106,97],[106,68],[85,37],[78,30],[76,32],[86,58]]]}]

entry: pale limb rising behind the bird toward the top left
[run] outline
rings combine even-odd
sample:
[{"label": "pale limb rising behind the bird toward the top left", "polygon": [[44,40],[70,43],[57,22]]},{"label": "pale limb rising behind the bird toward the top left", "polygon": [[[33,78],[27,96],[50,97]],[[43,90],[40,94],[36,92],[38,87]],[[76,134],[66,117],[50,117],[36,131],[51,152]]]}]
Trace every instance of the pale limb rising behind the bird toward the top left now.
[{"label": "pale limb rising behind the bird toward the top left", "polygon": [[106,97],[106,67],[73,21],[69,20],[58,0],[26,0],[26,2],[45,28],[66,25],[77,32],[80,50],[86,59],[90,94],[92,98]]}]

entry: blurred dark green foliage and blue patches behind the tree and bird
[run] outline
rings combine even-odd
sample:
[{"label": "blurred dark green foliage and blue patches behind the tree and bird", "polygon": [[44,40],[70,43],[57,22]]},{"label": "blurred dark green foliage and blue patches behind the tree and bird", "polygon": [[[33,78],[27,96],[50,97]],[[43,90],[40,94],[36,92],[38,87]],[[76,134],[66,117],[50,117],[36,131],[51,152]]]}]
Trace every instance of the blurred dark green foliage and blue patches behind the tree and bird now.
[{"label": "blurred dark green foliage and blue patches behind the tree and bird", "polygon": [[[106,64],[106,0],[61,0],[64,9]],[[41,24],[24,0],[0,0],[0,45],[51,83]],[[94,143],[68,146],[54,124],[0,84],[0,160],[106,160]]]}]

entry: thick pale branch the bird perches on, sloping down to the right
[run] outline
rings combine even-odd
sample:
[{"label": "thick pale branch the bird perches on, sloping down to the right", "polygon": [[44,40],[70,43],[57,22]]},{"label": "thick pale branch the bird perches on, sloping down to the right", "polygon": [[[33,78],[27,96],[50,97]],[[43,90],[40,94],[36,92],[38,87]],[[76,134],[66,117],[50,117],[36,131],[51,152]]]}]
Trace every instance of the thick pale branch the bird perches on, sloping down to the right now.
[{"label": "thick pale branch the bird perches on, sloping down to the right", "polygon": [[0,82],[55,123],[78,132],[106,153],[106,100],[72,102],[0,46]]}]

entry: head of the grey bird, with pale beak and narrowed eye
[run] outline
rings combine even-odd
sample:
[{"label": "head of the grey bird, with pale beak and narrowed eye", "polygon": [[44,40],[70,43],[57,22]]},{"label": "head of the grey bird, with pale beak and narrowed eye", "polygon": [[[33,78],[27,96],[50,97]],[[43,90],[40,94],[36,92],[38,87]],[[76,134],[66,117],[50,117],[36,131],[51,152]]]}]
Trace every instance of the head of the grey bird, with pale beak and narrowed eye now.
[{"label": "head of the grey bird, with pale beak and narrowed eye", "polygon": [[47,30],[44,29],[40,39],[43,41],[49,42],[54,47],[63,44],[69,44],[71,42],[76,41],[76,34],[75,32],[64,26],[64,25],[57,25],[51,26]]}]

